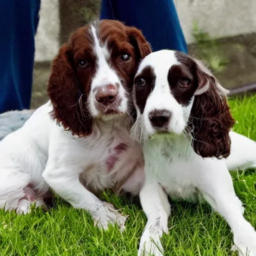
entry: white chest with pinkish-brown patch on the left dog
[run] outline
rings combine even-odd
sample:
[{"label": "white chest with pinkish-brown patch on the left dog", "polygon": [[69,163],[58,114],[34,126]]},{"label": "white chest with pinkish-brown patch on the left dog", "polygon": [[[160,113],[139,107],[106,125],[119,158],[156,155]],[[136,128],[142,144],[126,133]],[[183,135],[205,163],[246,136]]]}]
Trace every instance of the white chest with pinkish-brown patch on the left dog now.
[{"label": "white chest with pinkish-brown patch on the left dog", "polygon": [[141,145],[133,141],[128,130],[111,136],[83,141],[91,143],[84,159],[80,180],[94,190],[113,188],[138,193],[144,179]]}]

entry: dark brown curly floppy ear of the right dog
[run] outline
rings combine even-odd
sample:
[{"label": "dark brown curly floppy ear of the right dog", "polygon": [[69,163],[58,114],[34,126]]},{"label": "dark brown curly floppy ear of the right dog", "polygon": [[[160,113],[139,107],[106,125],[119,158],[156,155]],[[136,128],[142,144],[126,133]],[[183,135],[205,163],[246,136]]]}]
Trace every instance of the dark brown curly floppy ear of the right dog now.
[{"label": "dark brown curly floppy ear of the right dog", "polygon": [[198,87],[190,112],[192,147],[202,157],[227,157],[230,154],[229,131],[234,124],[227,103],[228,90],[198,60]]}]

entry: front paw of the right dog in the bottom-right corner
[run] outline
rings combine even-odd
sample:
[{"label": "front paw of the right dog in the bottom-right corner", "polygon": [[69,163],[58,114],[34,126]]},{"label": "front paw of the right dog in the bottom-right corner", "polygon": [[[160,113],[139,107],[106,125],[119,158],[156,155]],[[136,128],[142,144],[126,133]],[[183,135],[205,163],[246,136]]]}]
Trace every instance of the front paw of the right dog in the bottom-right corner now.
[{"label": "front paw of the right dog in the bottom-right corner", "polygon": [[243,231],[234,232],[234,245],[231,250],[238,251],[239,256],[256,256],[256,232],[249,223]]}]

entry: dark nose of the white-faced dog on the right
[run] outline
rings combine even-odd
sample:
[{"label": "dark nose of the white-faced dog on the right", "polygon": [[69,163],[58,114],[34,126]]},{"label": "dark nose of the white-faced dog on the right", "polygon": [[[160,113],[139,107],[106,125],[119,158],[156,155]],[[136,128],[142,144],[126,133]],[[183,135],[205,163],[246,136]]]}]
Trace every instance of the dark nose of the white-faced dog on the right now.
[{"label": "dark nose of the white-faced dog on the right", "polygon": [[154,127],[165,127],[170,121],[171,112],[166,109],[153,110],[149,112],[148,117]]}]

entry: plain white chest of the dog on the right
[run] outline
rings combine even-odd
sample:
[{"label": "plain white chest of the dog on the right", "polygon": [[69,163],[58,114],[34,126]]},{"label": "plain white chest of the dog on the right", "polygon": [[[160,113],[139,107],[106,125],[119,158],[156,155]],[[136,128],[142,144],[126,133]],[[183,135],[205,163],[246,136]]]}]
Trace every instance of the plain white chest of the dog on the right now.
[{"label": "plain white chest of the dog on the right", "polygon": [[174,143],[168,137],[149,140],[143,150],[146,176],[156,180],[172,198],[196,200],[200,197],[192,174],[196,156],[185,142]]}]

